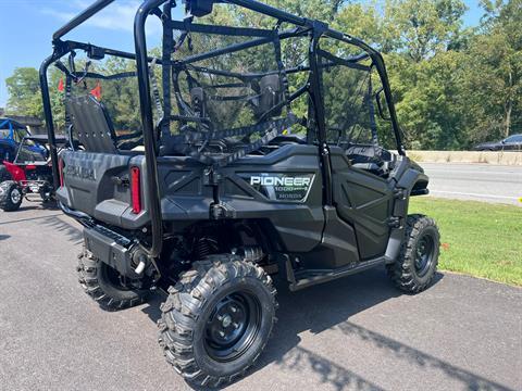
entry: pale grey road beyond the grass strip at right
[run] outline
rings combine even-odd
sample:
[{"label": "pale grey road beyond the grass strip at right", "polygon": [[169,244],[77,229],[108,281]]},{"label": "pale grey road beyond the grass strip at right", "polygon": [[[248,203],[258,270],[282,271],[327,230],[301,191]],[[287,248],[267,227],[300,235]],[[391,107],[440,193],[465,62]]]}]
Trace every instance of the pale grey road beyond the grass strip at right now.
[{"label": "pale grey road beyond the grass strip at right", "polygon": [[522,206],[522,166],[421,163],[434,197]]}]

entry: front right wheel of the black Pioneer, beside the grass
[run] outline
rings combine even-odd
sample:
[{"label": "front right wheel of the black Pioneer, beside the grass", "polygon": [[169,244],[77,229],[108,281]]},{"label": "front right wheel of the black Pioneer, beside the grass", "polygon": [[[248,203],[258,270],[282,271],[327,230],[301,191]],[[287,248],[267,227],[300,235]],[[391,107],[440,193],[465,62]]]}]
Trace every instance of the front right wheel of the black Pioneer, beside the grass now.
[{"label": "front right wheel of the black Pioneer, beside the grass", "polygon": [[440,235],[433,220],[424,215],[410,215],[400,254],[387,272],[397,288],[418,293],[425,290],[437,270]]}]

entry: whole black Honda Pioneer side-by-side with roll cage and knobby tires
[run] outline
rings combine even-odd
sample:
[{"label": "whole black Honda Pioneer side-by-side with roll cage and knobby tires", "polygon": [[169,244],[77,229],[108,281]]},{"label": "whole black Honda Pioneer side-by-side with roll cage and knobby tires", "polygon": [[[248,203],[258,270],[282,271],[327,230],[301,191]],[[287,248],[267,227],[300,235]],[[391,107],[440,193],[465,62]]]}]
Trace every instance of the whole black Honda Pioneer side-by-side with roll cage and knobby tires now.
[{"label": "whole black Honda Pioneer side-by-side with roll cage and knobby tires", "polygon": [[[430,286],[439,234],[433,219],[408,215],[428,178],[406,156],[378,52],[252,0],[187,0],[184,21],[172,18],[175,1],[147,0],[135,53],[62,40],[109,3],[59,29],[40,70],[51,140],[48,67],[66,78],[74,148],[51,149],[54,184],[64,213],[85,227],[77,269],[95,301],[119,310],[164,291],[166,361],[213,387],[245,374],[266,344],[273,278],[295,291],[385,265],[406,292]],[[262,14],[238,23],[272,27],[212,24],[212,12],[225,11]],[[148,56],[148,17],[163,25],[159,59]],[[83,64],[135,60],[136,72],[78,73],[77,53]],[[128,77],[139,91],[134,130],[116,104],[89,93]],[[122,90],[103,93],[125,104]]]}]

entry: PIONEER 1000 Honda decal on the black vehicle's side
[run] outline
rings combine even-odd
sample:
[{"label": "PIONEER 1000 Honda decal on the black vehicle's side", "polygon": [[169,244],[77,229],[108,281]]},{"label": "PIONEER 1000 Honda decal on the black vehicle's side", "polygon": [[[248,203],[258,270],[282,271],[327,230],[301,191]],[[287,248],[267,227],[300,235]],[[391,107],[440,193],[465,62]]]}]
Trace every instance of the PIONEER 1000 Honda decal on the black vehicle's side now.
[{"label": "PIONEER 1000 Honda decal on the black vehicle's side", "polygon": [[301,173],[249,173],[240,176],[270,200],[294,202],[307,200],[314,179],[314,174]]}]

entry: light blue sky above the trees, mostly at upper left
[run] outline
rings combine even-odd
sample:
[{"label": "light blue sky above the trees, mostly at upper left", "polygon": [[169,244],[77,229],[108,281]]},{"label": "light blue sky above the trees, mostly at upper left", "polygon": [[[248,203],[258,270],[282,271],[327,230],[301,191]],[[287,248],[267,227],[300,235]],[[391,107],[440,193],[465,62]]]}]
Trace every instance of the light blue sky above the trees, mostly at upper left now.
[{"label": "light blue sky above the trees, mostly at upper left", "polygon": [[[0,0],[0,108],[8,101],[5,78],[16,67],[33,66],[52,52],[52,34],[94,0]],[[65,36],[108,48],[133,51],[133,21],[141,1],[116,0],[105,10]],[[179,1],[181,3],[181,1]],[[478,0],[465,0],[464,24],[476,25],[482,16]],[[181,15],[181,11],[179,11]],[[149,48],[160,42],[160,24],[150,17]]]}]

